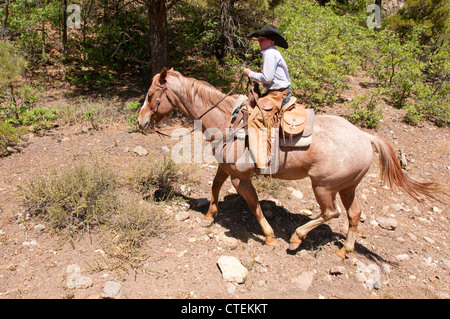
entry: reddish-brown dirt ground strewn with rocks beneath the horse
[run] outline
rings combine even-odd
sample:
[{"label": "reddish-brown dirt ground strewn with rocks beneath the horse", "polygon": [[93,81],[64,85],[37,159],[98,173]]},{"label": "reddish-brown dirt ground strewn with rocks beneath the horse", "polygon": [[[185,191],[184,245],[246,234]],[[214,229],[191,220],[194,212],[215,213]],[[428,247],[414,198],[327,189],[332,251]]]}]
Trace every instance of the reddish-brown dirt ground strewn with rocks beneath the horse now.
[{"label": "reddish-brown dirt ground strewn with rocks beneath the horse", "polygon": [[[388,106],[384,114],[381,127],[370,132],[385,137],[399,156],[403,151],[406,173],[448,184],[449,129],[408,126],[401,111]],[[359,186],[362,222],[356,251],[345,260],[335,254],[348,227],[344,211],[313,230],[296,253],[286,250],[295,228],[319,214],[307,179],[260,189],[277,236],[272,248],[229,180],[216,222],[201,227],[217,164],[186,164],[197,182],[179,185],[184,202],[162,203],[174,227],[147,240],[139,267],[118,267],[95,230],[72,244],[62,241],[29,218],[17,198],[24,181],[75,159],[101,156],[125,176],[147,157],[167,155],[176,142],[130,133],[123,121],[112,121],[100,130],[75,125],[30,136],[20,151],[1,158],[0,298],[449,298],[448,204],[421,204],[382,187],[377,157]],[[138,146],[146,152],[138,155]]]}]

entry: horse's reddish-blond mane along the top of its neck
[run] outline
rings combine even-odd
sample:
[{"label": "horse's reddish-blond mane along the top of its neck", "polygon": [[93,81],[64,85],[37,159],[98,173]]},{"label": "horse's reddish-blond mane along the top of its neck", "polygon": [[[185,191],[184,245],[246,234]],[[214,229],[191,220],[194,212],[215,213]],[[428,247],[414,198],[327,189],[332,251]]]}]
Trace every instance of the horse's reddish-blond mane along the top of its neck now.
[{"label": "horse's reddish-blond mane along the top of its neck", "polygon": [[[225,95],[208,82],[185,77],[180,72],[174,70],[171,70],[170,74],[176,76],[180,80],[182,87],[186,90],[186,95],[191,102],[194,102],[196,97],[199,97],[202,99],[205,106],[209,107],[217,103]],[[219,103],[217,107],[225,112],[225,114],[231,114],[233,104],[234,99],[231,96],[228,96]]]}]

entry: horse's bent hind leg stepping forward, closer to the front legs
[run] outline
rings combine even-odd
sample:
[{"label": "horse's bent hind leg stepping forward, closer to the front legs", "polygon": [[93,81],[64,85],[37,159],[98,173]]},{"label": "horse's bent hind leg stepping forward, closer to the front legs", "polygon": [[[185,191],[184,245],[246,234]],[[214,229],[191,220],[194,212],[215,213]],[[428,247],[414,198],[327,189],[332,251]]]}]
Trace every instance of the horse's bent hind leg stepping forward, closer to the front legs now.
[{"label": "horse's bent hind leg stepping forward, closer to the front legs", "polygon": [[311,230],[322,225],[326,221],[339,216],[336,207],[336,192],[318,186],[313,186],[313,190],[322,213],[316,219],[307,222],[295,230],[295,233],[289,240],[289,250],[296,250]]}]

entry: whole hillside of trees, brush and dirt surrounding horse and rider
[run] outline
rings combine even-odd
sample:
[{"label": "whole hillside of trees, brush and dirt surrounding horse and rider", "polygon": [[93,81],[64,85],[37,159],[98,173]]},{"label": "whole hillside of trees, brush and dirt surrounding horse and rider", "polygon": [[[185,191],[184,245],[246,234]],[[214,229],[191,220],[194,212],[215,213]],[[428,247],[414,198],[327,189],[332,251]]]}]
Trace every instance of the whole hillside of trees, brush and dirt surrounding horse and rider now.
[{"label": "whole hillside of trees, brush and dirt surrounding horse and rider", "polygon": [[[450,298],[445,1],[383,1],[375,30],[365,0],[89,0],[79,28],[65,3],[0,0],[0,299]],[[222,92],[259,70],[246,35],[266,22],[289,41],[298,101],[384,137],[408,176],[447,197],[383,187],[374,156],[345,260],[339,198],[341,216],[287,251],[320,214],[309,179],[253,179],[275,248],[229,179],[202,227],[218,164],[174,164],[178,140],[137,130],[137,112],[160,63]],[[162,126],[186,124],[177,110]],[[224,256],[244,279],[224,279]]]}]

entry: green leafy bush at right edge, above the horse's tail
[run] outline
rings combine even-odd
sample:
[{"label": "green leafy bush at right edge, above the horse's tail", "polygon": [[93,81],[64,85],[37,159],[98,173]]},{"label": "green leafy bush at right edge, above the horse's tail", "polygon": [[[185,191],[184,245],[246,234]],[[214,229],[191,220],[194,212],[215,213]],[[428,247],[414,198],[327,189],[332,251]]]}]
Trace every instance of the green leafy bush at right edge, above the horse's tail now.
[{"label": "green leafy bush at right edge, above the horse's tail", "polygon": [[369,73],[394,107],[408,110],[407,123],[427,119],[439,126],[448,125],[449,46],[443,43],[433,51],[421,45],[425,28],[414,27],[404,40],[392,31],[381,31]]}]

